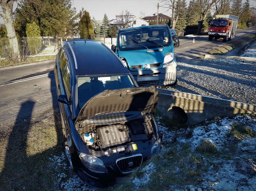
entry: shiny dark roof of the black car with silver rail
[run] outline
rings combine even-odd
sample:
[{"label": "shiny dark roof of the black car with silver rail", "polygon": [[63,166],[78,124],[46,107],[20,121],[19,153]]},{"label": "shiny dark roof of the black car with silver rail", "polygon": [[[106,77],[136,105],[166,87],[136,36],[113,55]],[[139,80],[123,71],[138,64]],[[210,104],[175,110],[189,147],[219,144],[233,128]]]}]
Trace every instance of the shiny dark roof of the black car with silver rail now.
[{"label": "shiny dark roof of the black car with silver rail", "polygon": [[74,57],[76,76],[129,73],[117,55],[98,41],[68,40],[63,45]]}]

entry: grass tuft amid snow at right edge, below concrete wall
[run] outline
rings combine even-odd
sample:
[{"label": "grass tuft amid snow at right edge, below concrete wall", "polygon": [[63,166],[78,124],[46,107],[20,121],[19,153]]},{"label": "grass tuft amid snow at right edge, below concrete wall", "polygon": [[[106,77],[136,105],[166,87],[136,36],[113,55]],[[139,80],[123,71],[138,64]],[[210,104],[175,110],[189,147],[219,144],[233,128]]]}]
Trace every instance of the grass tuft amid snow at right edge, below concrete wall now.
[{"label": "grass tuft amid snow at right edge, below concrete wall", "polygon": [[232,123],[231,130],[228,132],[227,136],[234,137],[236,141],[241,141],[244,136],[255,137],[256,133],[242,123]]}]

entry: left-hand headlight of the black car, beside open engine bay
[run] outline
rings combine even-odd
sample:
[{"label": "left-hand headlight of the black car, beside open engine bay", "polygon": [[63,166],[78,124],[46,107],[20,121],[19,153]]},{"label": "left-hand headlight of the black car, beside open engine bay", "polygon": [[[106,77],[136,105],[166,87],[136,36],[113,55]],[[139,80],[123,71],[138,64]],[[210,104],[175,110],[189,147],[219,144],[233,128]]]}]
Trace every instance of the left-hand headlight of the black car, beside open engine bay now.
[{"label": "left-hand headlight of the black car, beside open engine bay", "polygon": [[97,171],[102,171],[102,172],[107,172],[107,168],[106,166],[104,166],[103,161],[96,157],[96,156],[92,156],[90,154],[85,154],[85,153],[78,153],[79,154],[79,158],[81,159],[82,163],[93,170],[97,170]]}]

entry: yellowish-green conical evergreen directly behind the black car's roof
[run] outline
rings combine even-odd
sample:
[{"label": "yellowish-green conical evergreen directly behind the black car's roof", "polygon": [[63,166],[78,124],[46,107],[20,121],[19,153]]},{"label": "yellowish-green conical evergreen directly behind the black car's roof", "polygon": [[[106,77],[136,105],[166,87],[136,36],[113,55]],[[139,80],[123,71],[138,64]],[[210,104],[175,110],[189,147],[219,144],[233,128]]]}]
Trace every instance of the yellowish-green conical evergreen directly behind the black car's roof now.
[{"label": "yellowish-green conical evergreen directly behind the black car's roof", "polygon": [[80,38],[94,39],[93,23],[90,19],[90,14],[86,10],[80,11],[80,21],[78,22],[78,30]]}]

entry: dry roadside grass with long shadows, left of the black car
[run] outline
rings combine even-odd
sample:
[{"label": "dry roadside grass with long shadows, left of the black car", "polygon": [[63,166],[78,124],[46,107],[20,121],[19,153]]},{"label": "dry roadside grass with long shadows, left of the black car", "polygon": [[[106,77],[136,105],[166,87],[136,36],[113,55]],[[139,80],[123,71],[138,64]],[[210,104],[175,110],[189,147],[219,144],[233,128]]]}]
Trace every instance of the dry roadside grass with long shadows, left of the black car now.
[{"label": "dry roadside grass with long shadows, left of the black car", "polygon": [[63,152],[59,122],[52,114],[31,124],[21,120],[1,127],[0,190],[56,190],[58,169],[49,158]]}]

